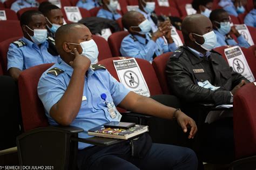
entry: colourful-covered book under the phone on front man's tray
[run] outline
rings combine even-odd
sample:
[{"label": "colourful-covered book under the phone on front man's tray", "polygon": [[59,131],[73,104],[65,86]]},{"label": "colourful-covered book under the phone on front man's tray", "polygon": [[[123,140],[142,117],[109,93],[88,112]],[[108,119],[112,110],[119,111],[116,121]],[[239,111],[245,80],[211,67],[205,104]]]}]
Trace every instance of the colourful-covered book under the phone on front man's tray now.
[{"label": "colourful-covered book under the phone on front man's tray", "polygon": [[139,134],[142,134],[148,131],[149,131],[149,127],[143,126],[143,125],[135,125],[131,128],[124,129],[124,128],[104,127],[104,124],[103,124],[95,128],[91,128],[88,131],[88,134],[96,137],[104,137],[104,138],[130,139],[132,137],[135,137]]}]

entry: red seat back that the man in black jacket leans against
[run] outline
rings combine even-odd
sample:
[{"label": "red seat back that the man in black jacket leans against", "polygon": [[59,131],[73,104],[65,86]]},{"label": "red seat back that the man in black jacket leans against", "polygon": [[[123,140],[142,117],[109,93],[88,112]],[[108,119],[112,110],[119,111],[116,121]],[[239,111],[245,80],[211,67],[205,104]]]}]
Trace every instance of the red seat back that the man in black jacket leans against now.
[{"label": "red seat back that the man in black jacket leans against", "polygon": [[166,52],[163,55],[157,56],[152,62],[154,71],[157,74],[158,81],[164,94],[170,94],[168,82],[165,74],[165,67],[172,52]]}]

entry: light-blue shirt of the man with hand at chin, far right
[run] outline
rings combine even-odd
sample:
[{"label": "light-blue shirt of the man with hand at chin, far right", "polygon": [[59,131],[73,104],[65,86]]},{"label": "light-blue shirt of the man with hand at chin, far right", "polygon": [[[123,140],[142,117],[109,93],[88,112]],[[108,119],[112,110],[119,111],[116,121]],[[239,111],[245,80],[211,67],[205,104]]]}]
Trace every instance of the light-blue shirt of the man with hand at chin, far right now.
[{"label": "light-blue shirt of the man with hand at chin, far right", "polygon": [[244,37],[242,37],[242,35],[240,35],[239,37],[237,37],[238,43],[235,42],[234,39],[226,39],[226,37],[224,35],[222,35],[219,31],[217,30],[213,30],[215,32],[215,35],[217,37],[217,44],[215,45],[215,47],[219,47],[219,46],[224,46],[224,45],[231,45],[231,46],[235,46],[235,45],[239,45],[241,47],[250,47],[250,44],[247,43],[247,41],[245,40]]}]

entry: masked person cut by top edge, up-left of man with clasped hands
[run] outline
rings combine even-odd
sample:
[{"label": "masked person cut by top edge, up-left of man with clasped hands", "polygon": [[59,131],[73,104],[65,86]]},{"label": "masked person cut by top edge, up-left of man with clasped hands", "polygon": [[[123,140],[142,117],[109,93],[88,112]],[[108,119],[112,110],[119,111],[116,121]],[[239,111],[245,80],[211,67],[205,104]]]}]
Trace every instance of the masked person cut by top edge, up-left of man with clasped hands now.
[{"label": "masked person cut by top edge, up-left of man with clasped hands", "polygon": [[100,9],[97,13],[97,17],[107,18],[112,20],[117,20],[122,16],[117,12],[117,0],[103,0],[102,9]]}]

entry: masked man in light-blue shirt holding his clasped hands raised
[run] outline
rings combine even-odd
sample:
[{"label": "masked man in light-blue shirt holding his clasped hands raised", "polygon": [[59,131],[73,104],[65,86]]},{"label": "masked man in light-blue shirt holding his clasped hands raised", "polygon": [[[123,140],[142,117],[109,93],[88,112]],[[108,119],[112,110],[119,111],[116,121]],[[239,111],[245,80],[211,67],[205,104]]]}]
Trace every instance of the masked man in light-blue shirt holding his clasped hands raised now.
[{"label": "masked man in light-blue shirt holding his clasped hands raised", "polygon": [[120,47],[122,56],[142,58],[152,62],[154,57],[176,50],[176,44],[171,37],[169,21],[159,25],[158,31],[152,34],[149,33],[151,30],[149,20],[137,11],[125,13],[122,23],[130,32],[130,35],[122,40]]}]

